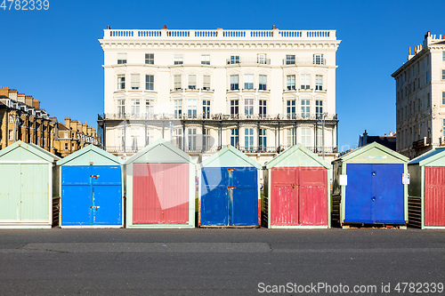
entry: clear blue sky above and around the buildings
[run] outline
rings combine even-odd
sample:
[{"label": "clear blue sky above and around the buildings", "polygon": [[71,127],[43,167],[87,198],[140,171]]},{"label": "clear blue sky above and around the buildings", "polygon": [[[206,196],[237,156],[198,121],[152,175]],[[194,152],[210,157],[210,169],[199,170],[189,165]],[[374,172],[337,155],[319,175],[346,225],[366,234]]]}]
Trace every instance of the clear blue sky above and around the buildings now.
[{"label": "clear blue sky above and around the buildings", "polygon": [[[3,0],[0,0],[0,4]],[[7,3],[7,1],[6,1]],[[103,113],[103,52],[111,28],[336,29],[341,150],[360,133],[395,131],[391,74],[426,31],[445,35],[445,1],[49,0],[49,10],[0,9],[0,85],[33,95],[51,116],[96,127]]]}]

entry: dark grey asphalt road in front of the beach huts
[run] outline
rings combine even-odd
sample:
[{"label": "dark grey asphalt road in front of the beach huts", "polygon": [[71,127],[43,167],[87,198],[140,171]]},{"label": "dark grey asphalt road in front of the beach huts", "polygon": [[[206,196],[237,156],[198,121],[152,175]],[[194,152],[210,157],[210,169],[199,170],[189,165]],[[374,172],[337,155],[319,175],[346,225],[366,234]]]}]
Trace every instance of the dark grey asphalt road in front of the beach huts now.
[{"label": "dark grey asphalt road in front of the beach huts", "polygon": [[444,295],[433,283],[443,230],[0,230],[1,295]]}]

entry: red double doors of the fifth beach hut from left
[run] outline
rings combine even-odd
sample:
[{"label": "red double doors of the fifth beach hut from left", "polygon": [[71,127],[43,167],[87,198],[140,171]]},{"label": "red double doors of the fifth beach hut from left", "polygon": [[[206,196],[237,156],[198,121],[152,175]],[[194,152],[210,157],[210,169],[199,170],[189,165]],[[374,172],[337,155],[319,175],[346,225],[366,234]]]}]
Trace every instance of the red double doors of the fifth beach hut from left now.
[{"label": "red double doors of the fifth beach hut from left", "polygon": [[328,225],[327,184],[326,168],[272,168],[271,225]]}]

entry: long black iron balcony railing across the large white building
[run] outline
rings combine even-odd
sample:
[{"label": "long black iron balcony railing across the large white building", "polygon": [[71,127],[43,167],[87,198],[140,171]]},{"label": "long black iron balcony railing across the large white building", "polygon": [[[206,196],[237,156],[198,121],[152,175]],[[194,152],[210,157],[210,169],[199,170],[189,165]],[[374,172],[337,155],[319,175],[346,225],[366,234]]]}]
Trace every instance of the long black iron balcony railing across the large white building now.
[{"label": "long black iron balcony railing across the large white building", "polygon": [[[105,113],[102,117],[104,120],[318,120],[319,116],[317,115],[302,115],[302,114],[276,114],[276,115],[244,115],[244,114],[211,114],[208,115],[187,115],[183,114],[182,116],[174,116],[173,114],[128,114],[128,113]],[[336,120],[336,114],[328,114],[325,120]]]}]

